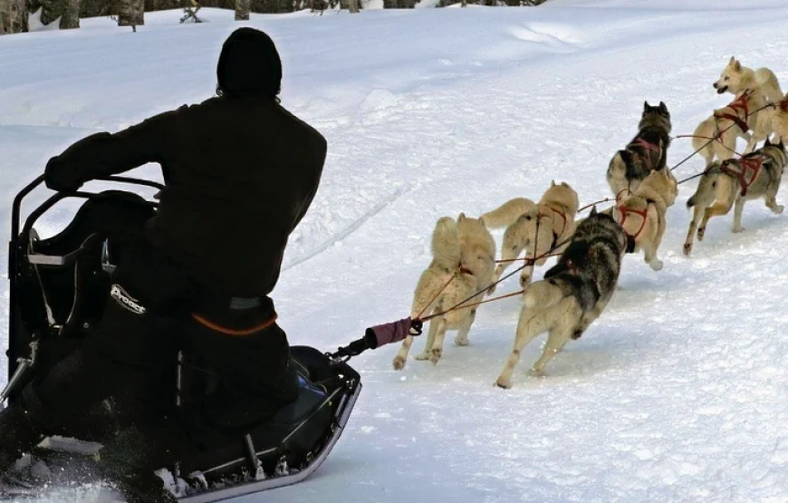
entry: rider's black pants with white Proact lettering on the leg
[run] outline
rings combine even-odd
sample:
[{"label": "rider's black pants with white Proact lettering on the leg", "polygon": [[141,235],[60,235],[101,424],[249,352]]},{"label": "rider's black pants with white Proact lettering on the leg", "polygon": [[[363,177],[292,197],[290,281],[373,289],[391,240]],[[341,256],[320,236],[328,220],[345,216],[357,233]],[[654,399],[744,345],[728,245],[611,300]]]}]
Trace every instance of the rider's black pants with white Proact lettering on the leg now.
[{"label": "rider's black pants with white Proact lettering on the leg", "polygon": [[[156,458],[150,462],[171,462],[195,444],[209,448],[238,439],[247,426],[295,399],[290,350],[279,326],[229,335],[192,315],[233,329],[255,327],[274,314],[270,299],[230,309],[141,240],[121,250],[113,283],[96,330],[24,390],[32,419],[46,433],[62,432],[63,425],[81,421],[83,411],[112,397],[123,404],[122,425],[159,444],[155,453],[150,450]],[[185,372],[207,376],[203,381],[210,386],[173,411],[163,404],[173,403],[178,352],[192,365]]]}]

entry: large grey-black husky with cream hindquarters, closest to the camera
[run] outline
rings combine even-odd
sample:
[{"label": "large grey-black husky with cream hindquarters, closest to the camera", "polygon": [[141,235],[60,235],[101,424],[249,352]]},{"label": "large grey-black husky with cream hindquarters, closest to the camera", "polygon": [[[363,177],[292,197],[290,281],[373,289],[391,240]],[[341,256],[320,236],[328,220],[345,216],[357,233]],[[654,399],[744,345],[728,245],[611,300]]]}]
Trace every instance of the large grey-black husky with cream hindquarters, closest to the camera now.
[{"label": "large grey-black husky with cream hindquarters, closest to the camera", "polygon": [[550,333],[542,358],[533,365],[536,375],[543,374],[544,365],[564,344],[580,338],[608,305],[619,281],[621,258],[633,248],[631,237],[616,220],[597,213],[596,208],[591,210],[589,218],[578,224],[558,264],[526,291],[514,350],[495,383],[502,388],[512,386],[520,352],[537,335]]}]

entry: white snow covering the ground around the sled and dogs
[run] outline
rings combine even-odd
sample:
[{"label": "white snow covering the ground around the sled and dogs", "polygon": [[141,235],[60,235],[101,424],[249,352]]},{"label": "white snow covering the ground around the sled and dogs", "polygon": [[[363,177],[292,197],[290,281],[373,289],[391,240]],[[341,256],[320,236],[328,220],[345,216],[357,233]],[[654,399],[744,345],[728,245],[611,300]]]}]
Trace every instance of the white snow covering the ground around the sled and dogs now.
[{"label": "white snow covering the ground around the sled and dogs", "polygon": [[[97,18],[0,38],[0,220],[73,140],[213,92],[219,48],[241,24],[230,11],[199,15],[209,23],[178,24],[172,11],[146,15],[137,34]],[[783,0],[253,15],[244,24],[283,54],[283,105],[330,145],[274,291],[291,342],[329,351],[407,315],[439,217],[538,198],[551,179],[582,204],[607,197],[605,169],[642,102],[666,102],[674,133],[691,133],[730,101],[711,84],[731,55],[772,68],[788,90],[786,15]],[[676,140],[668,163],[690,152]],[[677,176],[702,168],[694,158]],[[730,232],[732,216],[713,220],[687,258],[695,183],[668,212],[665,268],[628,256],[620,292],[546,377],[526,373],[541,337],[514,388],[493,386],[520,300],[485,305],[471,345],[447,337],[435,367],[411,359],[393,371],[397,347],[354,359],[364,390],[322,469],[236,501],[788,500],[788,225],[748,203],[745,233]],[[44,233],[69,215],[54,212]],[[498,293],[517,288],[512,278]],[[91,500],[85,490],[68,499]]]}]

